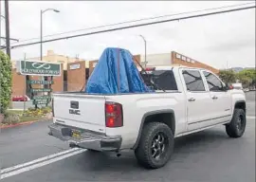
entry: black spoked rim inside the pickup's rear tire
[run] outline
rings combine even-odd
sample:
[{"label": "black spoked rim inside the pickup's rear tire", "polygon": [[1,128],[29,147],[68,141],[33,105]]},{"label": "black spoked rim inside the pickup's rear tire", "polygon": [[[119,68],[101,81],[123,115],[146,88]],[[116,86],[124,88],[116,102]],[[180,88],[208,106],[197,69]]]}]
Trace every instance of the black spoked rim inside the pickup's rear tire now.
[{"label": "black spoked rim inside the pickup's rear tire", "polygon": [[167,152],[169,147],[168,137],[159,132],[153,137],[151,145],[151,155],[155,160],[160,160]]}]

